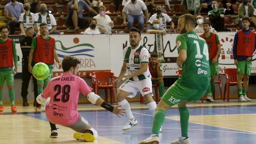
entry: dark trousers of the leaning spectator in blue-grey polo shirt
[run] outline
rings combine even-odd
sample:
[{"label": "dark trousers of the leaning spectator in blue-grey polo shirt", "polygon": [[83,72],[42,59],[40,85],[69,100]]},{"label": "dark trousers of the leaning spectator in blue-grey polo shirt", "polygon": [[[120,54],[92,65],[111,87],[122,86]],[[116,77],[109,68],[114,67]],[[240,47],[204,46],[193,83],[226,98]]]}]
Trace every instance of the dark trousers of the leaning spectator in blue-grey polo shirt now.
[{"label": "dark trousers of the leaning spectator in blue-grey polo shirt", "polygon": [[[76,10],[74,10],[76,11]],[[73,12],[74,12],[73,11]],[[74,26],[73,24],[73,21],[72,21],[72,15],[73,15],[73,12],[71,12],[68,16],[67,16],[67,19],[66,19],[66,23],[68,26]],[[77,11],[76,11],[77,12]],[[78,15],[78,12],[77,12],[77,15]],[[81,28],[81,29],[85,29],[85,28],[88,28],[89,27],[89,20],[88,19],[81,19],[81,18],[78,18],[78,23],[77,25]]]}]

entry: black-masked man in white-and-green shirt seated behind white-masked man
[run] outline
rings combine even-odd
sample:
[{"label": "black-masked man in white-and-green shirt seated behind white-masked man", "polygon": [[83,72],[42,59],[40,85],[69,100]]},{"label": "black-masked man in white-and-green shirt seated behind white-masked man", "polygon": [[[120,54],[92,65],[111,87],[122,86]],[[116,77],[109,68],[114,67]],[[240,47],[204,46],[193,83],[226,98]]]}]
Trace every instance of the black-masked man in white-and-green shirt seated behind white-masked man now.
[{"label": "black-masked man in white-and-green shirt seated behind white-masked man", "polygon": [[[157,13],[155,13],[154,15],[152,15],[150,17],[150,19],[147,22],[147,27],[151,26],[155,19],[159,19],[161,29],[164,29],[164,30],[167,31],[166,23],[170,22],[170,24],[171,24],[170,29],[171,29],[171,31],[174,30],[174,23],[172,22],[172,19],[169,17],[169,15],[167,15],[165,13],[162,13],[162,10],[163,10],[162,6],[160,4],[158,4],[156,6],[156,12]],[[167,32],[169,32],[169,31],[167,31]]]}]

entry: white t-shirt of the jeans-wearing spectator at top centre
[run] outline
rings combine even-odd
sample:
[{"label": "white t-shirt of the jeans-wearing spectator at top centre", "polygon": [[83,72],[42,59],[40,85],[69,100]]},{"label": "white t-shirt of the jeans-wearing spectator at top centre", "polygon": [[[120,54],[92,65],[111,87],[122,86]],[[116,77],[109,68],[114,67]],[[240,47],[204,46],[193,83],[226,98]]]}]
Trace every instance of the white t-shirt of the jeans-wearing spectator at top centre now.
[{"label": "white t-shirt of the jeans-wearing spectator at top centre", "polygon": [[132,2],[129,1],[125,4],[123,12],[128,13],[130,15],[140,15],[143,13],[142,10],[145,10],[146,8],[147,6],[141,0],[137,0],[136,4],[132,4]]}]

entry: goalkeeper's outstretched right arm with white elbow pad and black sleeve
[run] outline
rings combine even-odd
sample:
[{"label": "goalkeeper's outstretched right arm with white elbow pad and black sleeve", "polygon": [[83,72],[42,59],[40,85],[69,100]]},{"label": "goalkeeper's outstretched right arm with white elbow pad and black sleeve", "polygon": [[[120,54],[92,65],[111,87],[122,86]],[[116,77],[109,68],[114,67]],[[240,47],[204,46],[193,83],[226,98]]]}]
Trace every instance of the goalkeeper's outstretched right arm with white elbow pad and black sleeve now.
[{"label": "goalkeeper's outstretched right arm with white elbow pad and black sleeve", "polygon": [[120,109],[119,107],[121,106],[111,106],[110,104],[104,102],[102,98],[100,98],[98,95],[96,95],[94,92],[89,92],[87,94],[87,99],[92,103],[92,104],[97,104],[98,106],[103,107],[104,109],[115,113],[118,117],[120,115],[124,116],[123,113],[125,113],[125,109]]}]

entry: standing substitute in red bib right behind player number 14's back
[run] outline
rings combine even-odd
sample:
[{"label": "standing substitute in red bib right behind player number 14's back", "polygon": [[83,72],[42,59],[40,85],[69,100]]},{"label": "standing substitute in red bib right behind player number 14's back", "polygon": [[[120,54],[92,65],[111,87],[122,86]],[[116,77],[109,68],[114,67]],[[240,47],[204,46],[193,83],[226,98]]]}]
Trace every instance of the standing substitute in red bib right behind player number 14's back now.
[{"label": "standing substitute in red bib right behind player number 14's back", "polygon": [[206,98],[207,102],[214,102],[214,99],[212,98],[212,92],[215,87],[215,76],[219,74],[219,56],[221,51],[221,44],[219,41],[219,36],[216,33],[211,33],[211,25],[209,22],[203,23],[203,34],[200,35],[201,38],[205,39],[208,49],[209,49],[209,64],[210,64],[210,75],[211,75],[211,81],[209,84],[209,87],[207,89],[208,96]]}]

